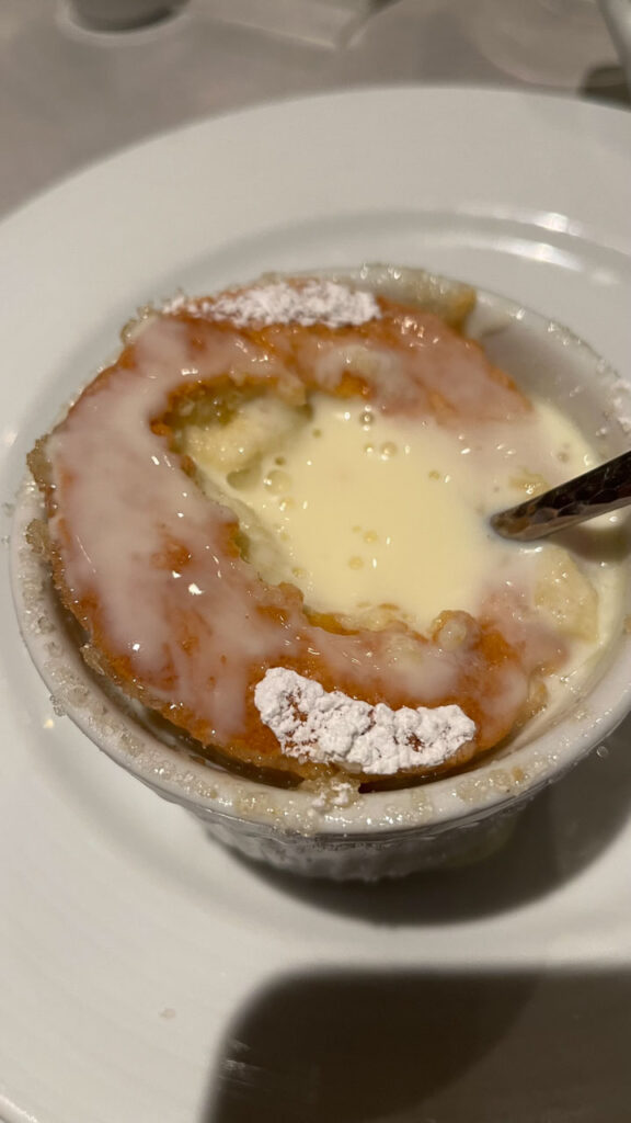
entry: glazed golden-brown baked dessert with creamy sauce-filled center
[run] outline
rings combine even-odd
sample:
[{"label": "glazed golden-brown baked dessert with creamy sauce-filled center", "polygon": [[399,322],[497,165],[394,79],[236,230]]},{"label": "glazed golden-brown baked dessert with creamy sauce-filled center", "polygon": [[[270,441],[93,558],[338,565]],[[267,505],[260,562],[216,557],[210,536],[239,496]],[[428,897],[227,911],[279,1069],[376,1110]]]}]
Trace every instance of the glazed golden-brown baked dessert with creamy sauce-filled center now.
[{"label": "glazed golden-brown baked dessert with creamy sauce-filled center", "polygon": [[446,317],[263,279],[127,331],[29,457],[85,657],[223,761],[431,778],[597,650],[606,567],[488,514],[596,463]]}]

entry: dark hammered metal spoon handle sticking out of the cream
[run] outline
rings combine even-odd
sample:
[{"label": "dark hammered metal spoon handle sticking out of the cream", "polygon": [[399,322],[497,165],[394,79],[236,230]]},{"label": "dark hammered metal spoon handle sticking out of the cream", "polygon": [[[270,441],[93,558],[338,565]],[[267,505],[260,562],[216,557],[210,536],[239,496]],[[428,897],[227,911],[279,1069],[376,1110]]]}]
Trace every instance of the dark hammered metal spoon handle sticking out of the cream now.
[{"label": "dark hammered metal spoon handle sticking out of the cream", "polygon": [[491,526],[504,538],[531,541],[631,503],[631,453],[575,476],[543,495],[500,511]]}]

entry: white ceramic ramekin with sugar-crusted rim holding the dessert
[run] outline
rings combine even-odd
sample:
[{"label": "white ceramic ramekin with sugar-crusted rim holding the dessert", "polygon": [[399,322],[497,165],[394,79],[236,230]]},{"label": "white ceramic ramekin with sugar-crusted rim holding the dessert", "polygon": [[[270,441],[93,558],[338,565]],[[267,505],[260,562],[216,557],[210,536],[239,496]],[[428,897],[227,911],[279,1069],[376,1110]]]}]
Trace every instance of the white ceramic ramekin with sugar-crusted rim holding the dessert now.
[{"label": "white ceramic ramekin with sugar-crusted rim holding the dessert", "polygon": [[[469,327],[528,393],[560,402],[604,456],[628,447],[631,390],[586,344],[490,293],[478,294]],[[193,742],[117,697],[90,670],[76,627],[68,624],[45,566],[25,540],[38,514],[39,496],[27,482],[12,536],[15,600],[25,642],[57,710],[129,773],[203,820],[216,839],[276,867],[373,879],[470,861],[496,846],[515,813],[631,710],[628,582],[615,633],[579,693],[545,711],[473,770],[363,794],[346,806],[301,788],[272,787],[204,760]]]}]

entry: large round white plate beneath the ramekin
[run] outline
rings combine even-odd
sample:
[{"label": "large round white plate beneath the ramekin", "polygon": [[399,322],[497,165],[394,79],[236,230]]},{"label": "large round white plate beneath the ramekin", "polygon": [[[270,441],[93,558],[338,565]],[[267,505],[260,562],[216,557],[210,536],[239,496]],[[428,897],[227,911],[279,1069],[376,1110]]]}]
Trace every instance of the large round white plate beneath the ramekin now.
[{"label": "large round white plate beneath the ramekin", "polygon": [[[630,116],[464,89],[263,107],[86,171],[0,228],[4,501],[31,441],[115,348],[129,310],[179,286],[208,290],[271,267],[420,264],[567,323],[622,368],[631,354],[630,174]],[[199,822],[55,715],[19,640],[6,563],[0,1114],[9,1123],[417,1120],[419,1096],[429,1111],[474,1077],[463,1059],[438,1092],[410,1084],[405,1059],[383,1052],[392,1025],[367,1041],[366,1010],[379,1011],[381,1023],[396,1021],[405,995],[418,993],[422,1005],[433,986],[426,973],[448,993],[449,980],[470,989],[519,970],[525,990],[511,998],[504,987],[510,1010],[477,1041],[479,1062],[491,1038],[502,1056],[512,1040],[505,1026],[545,969],[584,980],[594,967],[598,978],[615,968],[627,979],[629,724],[473,871],[372,888],[296,883],[218,849]],[[393,968],[394,983],[384,983]],[[614,980],[606,995],[623,990]],[[571,993],[586,992],[577,983]],[[322,996],[331,1033],[318,1035]],[[589,1023],[596,1060],[603,996]],[[349,1021],[349,1010],[362,1017]],[[612,1016],[610,1006],[609,1025]],[[545,1023],[548,1007],[537,1037]],[[422,1024],[415,1031],[422,1043]],[[377,1060],[391,1090],[364,1102]],[[362,1084],[336,1114],[322,1089],[330,1094],[331,1074],[358,1067]],[[525,1087],[514,1085],[515,1103]]]}]

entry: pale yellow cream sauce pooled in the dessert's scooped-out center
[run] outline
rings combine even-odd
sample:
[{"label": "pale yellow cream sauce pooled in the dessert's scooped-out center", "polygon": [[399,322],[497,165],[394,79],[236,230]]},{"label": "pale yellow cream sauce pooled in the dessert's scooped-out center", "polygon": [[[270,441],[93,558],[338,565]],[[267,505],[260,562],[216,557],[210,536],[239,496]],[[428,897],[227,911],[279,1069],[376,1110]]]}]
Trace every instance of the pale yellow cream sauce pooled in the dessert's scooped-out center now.
[{"label": "pale yellow cream sauce pooled in the dessert's scooped-out center", "polygon": [[293,411],[255,399],[228,424],[186,426],[182,445],[209,493],[238,512],[258,570],[298,585],[316,612],[427,632],[446,608],[475,615],[494,590],[518,587],[566,634],[597,641],[603,567],[579,569],[554,542],[507,544],[488,526],[499,506],[596,463],[548,403],[464,433],[324,394]]}]

